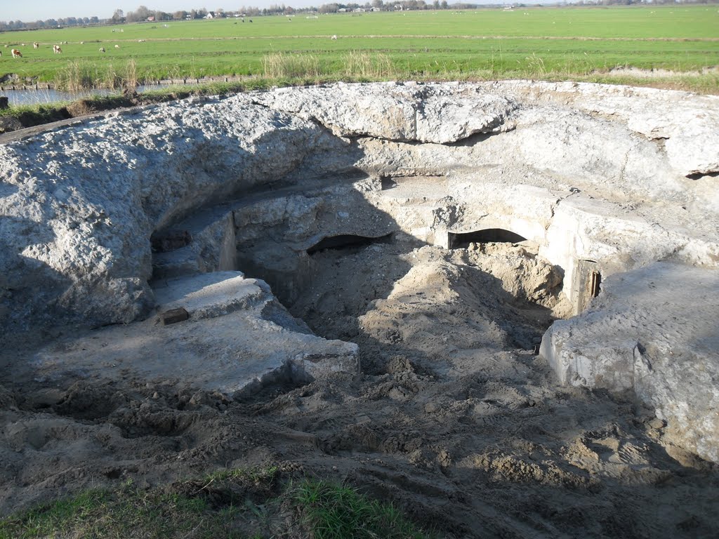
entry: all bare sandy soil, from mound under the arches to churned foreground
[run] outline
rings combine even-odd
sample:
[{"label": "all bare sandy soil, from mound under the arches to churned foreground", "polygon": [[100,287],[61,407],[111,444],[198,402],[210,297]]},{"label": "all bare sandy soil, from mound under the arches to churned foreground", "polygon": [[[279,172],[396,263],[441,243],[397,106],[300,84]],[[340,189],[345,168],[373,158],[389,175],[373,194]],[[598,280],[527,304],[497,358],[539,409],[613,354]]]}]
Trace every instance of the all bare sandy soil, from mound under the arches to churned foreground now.
[{"label": "all bare sandy soil, from mound under the arches to churned foreground", "polygon": [[[138,379],[0,377],[0,515],[133,478],[280,464],[392,499],[440,537],[715,537],[719,469],[651,410],[559,387],[533,346],[567,305],[531,247],[326,250],[290,312],[362,373],[244,401]],[[78,373],[79,374],[79,373]]]}]

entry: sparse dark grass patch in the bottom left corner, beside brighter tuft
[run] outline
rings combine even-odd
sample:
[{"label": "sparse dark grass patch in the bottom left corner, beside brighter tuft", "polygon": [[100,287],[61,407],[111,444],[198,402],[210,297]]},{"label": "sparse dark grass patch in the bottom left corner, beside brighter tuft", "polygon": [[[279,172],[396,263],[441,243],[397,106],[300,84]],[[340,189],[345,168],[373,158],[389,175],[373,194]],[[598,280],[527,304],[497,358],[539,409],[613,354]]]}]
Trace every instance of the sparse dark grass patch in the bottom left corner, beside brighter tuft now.
[{"label": "sparse dark grass patch in the bottom left corner, beside brighter tuft", "polygon": [[247,534],[247,522],[273,497],[277,477],[277,468],[229,470],[165,487],[88,490],[0,520],[0,539],[260,537]]}]

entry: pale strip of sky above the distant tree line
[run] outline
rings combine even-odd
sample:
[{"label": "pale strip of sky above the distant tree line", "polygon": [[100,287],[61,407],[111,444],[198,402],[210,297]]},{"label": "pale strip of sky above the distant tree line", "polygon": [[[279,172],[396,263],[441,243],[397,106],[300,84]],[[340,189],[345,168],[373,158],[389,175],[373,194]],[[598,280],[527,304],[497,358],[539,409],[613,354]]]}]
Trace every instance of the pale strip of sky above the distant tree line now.
[{"label": "pale strip of sky above the distant tree line", "polygon": [[210,11],[218,8],[234,11],[240,6],[267,7],[270,4],[301,7],[327,4],[329,1],[331,0],[0,0],[0,21],[34,22],[38,19],[44,21],[61,17],[109,19],[116,9],[134,11],[137,6],[173,13],[180,9],[190,11],[200,8]]}]

